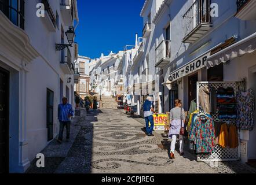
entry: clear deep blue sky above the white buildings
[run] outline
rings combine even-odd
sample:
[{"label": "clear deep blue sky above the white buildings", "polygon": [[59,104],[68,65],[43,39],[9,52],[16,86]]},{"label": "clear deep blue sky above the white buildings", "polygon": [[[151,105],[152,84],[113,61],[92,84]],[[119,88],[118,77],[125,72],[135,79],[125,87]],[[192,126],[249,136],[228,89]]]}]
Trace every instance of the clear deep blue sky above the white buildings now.
[{"label": "clear deep blue sky above the white buildings", "polygon": [[142,35],[140,11],[145,0],[78,0],[76,40],[79,55],[91,58],[117,53]]}]

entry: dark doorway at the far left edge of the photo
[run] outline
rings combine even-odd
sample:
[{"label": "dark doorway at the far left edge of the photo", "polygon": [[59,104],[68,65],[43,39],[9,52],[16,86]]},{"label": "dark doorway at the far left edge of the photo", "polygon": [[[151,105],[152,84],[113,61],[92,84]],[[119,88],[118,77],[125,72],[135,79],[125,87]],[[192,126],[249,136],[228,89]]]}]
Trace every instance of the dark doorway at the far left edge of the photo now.
[{"label": "dark doorway at the far left edge of the photo", "polygon": [[9,72],[0,67],[0,173],[9,172]]}]

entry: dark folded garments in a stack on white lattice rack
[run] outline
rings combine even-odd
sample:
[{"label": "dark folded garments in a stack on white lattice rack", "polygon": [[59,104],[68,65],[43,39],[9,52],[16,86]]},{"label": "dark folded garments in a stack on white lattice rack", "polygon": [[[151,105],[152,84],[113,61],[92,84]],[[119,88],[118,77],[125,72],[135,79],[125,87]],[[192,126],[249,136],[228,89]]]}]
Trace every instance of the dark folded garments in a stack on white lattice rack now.
[{"label": "dark folded garments in a stack on white lattice rack", "polygon": [[219,87],[217,90],[219,119],[236,119],[236,98],[232,87]]}]

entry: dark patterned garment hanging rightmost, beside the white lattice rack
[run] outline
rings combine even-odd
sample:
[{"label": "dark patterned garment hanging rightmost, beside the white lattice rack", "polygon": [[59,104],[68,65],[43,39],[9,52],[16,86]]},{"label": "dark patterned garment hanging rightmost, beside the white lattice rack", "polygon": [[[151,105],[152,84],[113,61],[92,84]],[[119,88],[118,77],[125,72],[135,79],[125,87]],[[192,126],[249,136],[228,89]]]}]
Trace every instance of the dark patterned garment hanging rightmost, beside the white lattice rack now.
[{"label": "dark patterned garment hanging rightmost, beside the white lattice rack", "polygon": [[253,90],[250,89],[246,92],[240,91],[237,93],[236,99],[237,127],[242,130],[253,130],[253,112],[255,109]]}]

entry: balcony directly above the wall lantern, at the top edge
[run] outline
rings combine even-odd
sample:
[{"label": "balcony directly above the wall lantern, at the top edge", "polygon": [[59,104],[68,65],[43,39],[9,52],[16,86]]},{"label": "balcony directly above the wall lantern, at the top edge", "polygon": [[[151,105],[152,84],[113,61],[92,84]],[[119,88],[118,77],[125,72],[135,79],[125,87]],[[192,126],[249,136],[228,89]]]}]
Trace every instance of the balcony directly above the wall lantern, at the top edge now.
[{"label": "balcony directly above the wall lantern, at the top edge", "polygon": [[73,0],[61,0],[60,10],[63,16],[64,24],[67,26],[73,25],[73,20],[74,20]]}]

